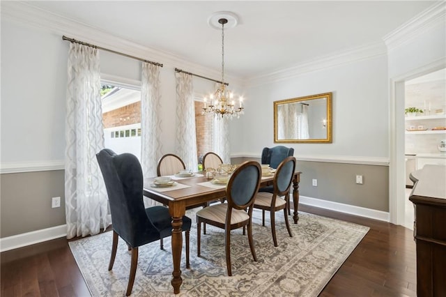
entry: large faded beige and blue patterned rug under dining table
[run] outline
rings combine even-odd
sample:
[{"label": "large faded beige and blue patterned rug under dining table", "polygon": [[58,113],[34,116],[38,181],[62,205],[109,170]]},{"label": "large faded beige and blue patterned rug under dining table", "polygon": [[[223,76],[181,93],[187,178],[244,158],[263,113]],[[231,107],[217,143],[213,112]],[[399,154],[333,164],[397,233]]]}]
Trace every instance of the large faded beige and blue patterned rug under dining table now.
[{"label": "large faded beige and blue patterned rug under dining table", "polygon": [[[266,227],[261,211],[254,211],[253,238],[257,262],[252,259],[242,229],[231,231],[233,276],[226,275],[224,230],[206,226],[201,235],[201,257],[197,257],[197,224],[194,212],[190,232],[190,269],[185,268],[185,248],[180,294],[171,287],[170,238],[164,250],[156,241],[139,248],[139,261],[132,296],[318,296],[325,284],[367,234],[368,227],[309,213],[299,213],[291,223],[289,237],[282,212],[276,213],[279,246],[274,247],[267,212]],[[112,232],[69,243],[92,296],[125,296],[130,272],[130,254],[120,238],[112,271],[108,271]]]}]

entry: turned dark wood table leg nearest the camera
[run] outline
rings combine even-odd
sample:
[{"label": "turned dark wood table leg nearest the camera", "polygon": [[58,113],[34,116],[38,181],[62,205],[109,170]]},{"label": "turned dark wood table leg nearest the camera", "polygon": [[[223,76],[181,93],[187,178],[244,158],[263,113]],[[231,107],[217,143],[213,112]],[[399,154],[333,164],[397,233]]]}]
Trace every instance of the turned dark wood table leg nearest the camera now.
[{"label": "turned dark wood table leg nearest the camera", "polygon": [[183,283],[181,278],[181,250],[183,249],[183,215],[185,215],[185,204],[169,204],[169,213],[172,216],[172,259],[174,262],[174,271],[172,272],[171,284],[174,287],[174,294],[180,293],[180,287]]}]

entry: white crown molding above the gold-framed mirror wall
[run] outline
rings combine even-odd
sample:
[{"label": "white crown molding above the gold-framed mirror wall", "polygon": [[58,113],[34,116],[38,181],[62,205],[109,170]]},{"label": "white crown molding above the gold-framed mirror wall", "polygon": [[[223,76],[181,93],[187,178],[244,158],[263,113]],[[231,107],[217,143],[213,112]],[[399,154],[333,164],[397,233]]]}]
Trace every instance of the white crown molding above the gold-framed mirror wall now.
[{"label": "white crown molding above the gold-framed mirror wall", "polygon": [[250,79],[247,79],[246,84],[248,86],[258,86],[261,84],[279,82],[285,79],[291,79],[298,75],[302,75],[303,73],[311,73],[342,64],[371,59],[376,56],[383,56],[385,54],[387,54],[387,50],[384,43],[362,45],[360,47],[355,47],[350,50],[344,50],[335,54],[320,56],[305,63],[299,63],[289,68],[279,69],[272,73],[252,77]]}]

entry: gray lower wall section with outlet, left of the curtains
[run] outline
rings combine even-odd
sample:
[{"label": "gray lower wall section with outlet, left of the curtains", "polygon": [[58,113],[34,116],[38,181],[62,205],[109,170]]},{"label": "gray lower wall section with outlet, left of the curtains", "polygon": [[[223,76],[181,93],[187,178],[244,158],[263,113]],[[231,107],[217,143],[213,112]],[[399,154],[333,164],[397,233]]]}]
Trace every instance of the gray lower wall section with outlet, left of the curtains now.
[{"label": "gray lower wall section with outlet, left of the curtains", "polygon": [[[64,173],[0,174],[0,238],[66,224]],[[61,207],[51,208],[52,197],[61,197]]]}]

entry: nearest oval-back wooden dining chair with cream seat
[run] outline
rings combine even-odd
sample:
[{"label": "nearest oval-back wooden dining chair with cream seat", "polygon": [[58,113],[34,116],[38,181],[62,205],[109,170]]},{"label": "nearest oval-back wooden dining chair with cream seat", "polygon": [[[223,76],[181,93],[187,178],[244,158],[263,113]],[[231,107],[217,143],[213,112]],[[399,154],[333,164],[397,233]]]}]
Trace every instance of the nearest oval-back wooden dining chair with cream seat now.
[{"label": "nearest oval-back wooden dining chair with cream seat", "polygon": [[224,229],[226,269],[231,271],[231,230],[247,227],[249,248],[254,261],[257,261],[252,239],[252,204],[259,191],[261,167],[259,162],[247,161],[231,175],[226,185],[225,204],[214,204],[197,212],[197,255],[201,254],[201,223]]}]

